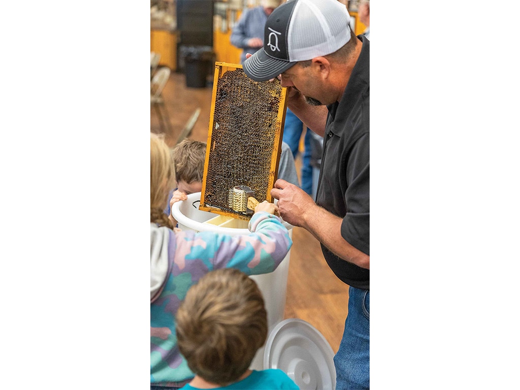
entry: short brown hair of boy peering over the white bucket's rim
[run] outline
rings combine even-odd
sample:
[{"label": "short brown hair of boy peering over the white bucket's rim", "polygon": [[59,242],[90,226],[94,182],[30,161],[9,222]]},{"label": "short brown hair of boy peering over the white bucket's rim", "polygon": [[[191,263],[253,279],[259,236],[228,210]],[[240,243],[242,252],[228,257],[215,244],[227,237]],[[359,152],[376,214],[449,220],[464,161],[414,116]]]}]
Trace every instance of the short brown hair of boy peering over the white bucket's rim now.
[{"label": "short brown hair of boy peering over the white bucket's rim", "polygon": [[188,184],[193,181],[202,183],[206,142],[185,139],[173,149],[173,158],[177,181],[185,181]]}]

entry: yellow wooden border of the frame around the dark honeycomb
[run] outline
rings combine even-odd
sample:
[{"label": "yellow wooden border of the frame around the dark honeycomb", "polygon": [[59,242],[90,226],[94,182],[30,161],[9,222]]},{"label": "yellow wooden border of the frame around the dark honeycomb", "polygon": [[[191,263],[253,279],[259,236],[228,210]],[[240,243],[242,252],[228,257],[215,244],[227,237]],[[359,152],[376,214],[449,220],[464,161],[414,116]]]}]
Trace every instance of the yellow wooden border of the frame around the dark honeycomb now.
[{"label": "yellow wooden border of the frame around the dark honeycomb", "polygon": [[[213,81],[210,123],[209,123],[209,131],[208,131],[208,136],[207,136],[206,159],[204,162],[204,176],[203,176],[203,180],[202,180],[202,192],[201,192],[199,210],[208,211],[211,213],[216,213],[216,214],[221,214],[221,215],[226,215],[226,216],[229,216],[232,218],[250,219],[251,214],[236,212],[232,209],[229,209],[229,207],[227,205],[222,204],[222,202],[220,202],[220,204],[214,204],[214,203],[210,202],[208,199],[206,199],[207,198],[206,194],[211,192],[211,191],[208,191],[209,187],[207,187],[207,186],[210,186],[210,183],[208,183],[208,171],[210,170],[210,167],[213,168],[212,164],[214,162],[212,161],[211,151],[212,151],[212,149],[215,148],[215,144],[216,144],[216,141],[214,141],[214,139],[213,139],[215,126],[216,126],[216,124],[215,124],[216,99],[217,99],[217,93],[218,94],[223,93],[222,90],[219,90],[219,88],[222,88],[219,86],[219,81],[220,81],[220,79],[222,79],[222,77],[225,75],[226,72],[236,71],[236,70],[241,70],[241,69],[242,69],[242,66],[240,64],[215,62],[215,74],[214,74],[214,81]],[[245,76],[245,74],[244,74],[244,76]],[[280,154],[281,154],[283,125],[285,122],[285,103],[287,101],[287,95],[286,95],[287,88],[282,88],[279,85],[279,82],[277,80],[272,81],[272,82],[266,81],[266,82],[259,83],[259,82],[253,81],[251,79],[248,79],[246,77],[245,77],[245,79],[248,80],[247,81],[248,83],[251,83],[252,88],[263,88],[264,93],[265,93],[265,89],[267,88],[267,89],[269,89],[269,94],[272,96],[272,98],[278,99],[277,100],[278,107],[277,107],[276,121],[275,121],[276,123],[275,123],[274,129],[269,129],[270,132],[274,131],[274,133],[270,133],[273,136],[274,141],[273,141],[272,145],[270,145],[272,147],[272,150],[270,153],[270,164],[269,164],[269,168],[268,168],[269,173],[267,175],[267,172],[263,172],[263,174],[266,177],[268,176],[267,191],[265,193],[265,197],[263,197],[263,196],[258,197],[258,194],[257,194],[257,200],[259,202],[262,202],[264,200],[267,200],[268,202],[272,202],[273,200],[272,200],[272,197],[270,194],[270,190],[274,186],[275,181],[278,176],[278,164],[280,161]],[[243,77],[241,77],[241,82],[242,83],[244,82]],[[269,84],[267,84],[267,83],[269,83]],[[245,99],[240,99],[240,96],[237,96],[234,99],[233,104],[243,106],[244,100]],[[260,103],[260,102],[258,102],[258,103]],[[256,103],[253,102],[253,103],[249,103],[249,104],[256,104]],[[245,109],[247,109],[247,107]],[[270,113],[272,116],[274,116],[274,110],[270,111]],[[254,128],[255,127],[253,124],[251,126],[244,126],[244,128],[240,128],[240,136],[236,139],[237,144],[239,144],[240,142],[248,142],[249,144],[251,144],[251,139],[252,139],[251,137],[253,136],[253,134],[252,133],[250,134],[250,132],[252,132],[252,130]],[[258,132],[258,130],[256,130],[256,131]],[[215,135],[215,138],[216,138],[216,135]],[[249,146],[249,147],[251,148],[251,146]],[[244,146],[244,149],[246,149],[245,146]],[[241,160],[241,163],[246,165],[246,164],[248,164],[248,162],[250,162],[252,160],[253,156],[249,155],[248,153],[243,153],[243,154],[244,155],[240,155],[240,160]],[[265,161],[265,164],[267,165],[267,161]],[[227,172],[226,174],[228,174],[230,177],[233,177],[234,172],[231,170],[230,172]],[[238,177],[238,175],[237,175],[237,177]],[[219,183],[212,182],[211,185],[214,188],[214,186],[219,185]],[[248,185],[248,184],[243,183],[239,179],[237,179],[237,183],[235,185]],[[225,186],[223,186],[223,187],[225,187]],[[222,190],[227,191],[228,188],[223,188]],[[256,190],[256,189],[254,189],[254,190]]]}]

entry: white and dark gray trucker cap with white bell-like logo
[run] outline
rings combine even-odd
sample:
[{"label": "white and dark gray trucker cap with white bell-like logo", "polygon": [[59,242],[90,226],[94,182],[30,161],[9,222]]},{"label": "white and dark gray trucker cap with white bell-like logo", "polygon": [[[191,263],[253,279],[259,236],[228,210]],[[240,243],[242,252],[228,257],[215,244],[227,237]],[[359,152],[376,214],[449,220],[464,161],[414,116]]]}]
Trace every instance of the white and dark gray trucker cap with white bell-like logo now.
[{"label": "white and dark gray trucker cap with white bell-like logo", "polygon": [[337,0],[288,0],[267,18],[264,47],[244,61],[244,72],[266,81],[298,61],[334,53],[350,40],[349,23]]}]

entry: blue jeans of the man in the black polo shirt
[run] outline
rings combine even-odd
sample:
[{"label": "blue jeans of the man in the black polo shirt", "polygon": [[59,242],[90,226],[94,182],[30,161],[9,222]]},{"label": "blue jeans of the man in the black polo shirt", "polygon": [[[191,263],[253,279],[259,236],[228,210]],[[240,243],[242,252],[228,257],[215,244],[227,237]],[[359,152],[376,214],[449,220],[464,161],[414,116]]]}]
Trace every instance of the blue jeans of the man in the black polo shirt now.
[{"label": "blue jeans of the man in the black polo shirt", "polygon": [[348,314],[334,356],[336,390],[370,388],[370,290],[348,289]]}]

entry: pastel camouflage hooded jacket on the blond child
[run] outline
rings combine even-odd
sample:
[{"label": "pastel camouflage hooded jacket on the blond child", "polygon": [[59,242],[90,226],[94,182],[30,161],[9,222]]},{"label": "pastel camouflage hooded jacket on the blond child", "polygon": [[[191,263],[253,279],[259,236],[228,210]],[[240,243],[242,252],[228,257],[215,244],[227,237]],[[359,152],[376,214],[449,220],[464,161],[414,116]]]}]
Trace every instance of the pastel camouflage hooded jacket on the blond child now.
[{"label": "pastel camouflage hooded jacket on the blond child", "polygon": [[172,386],[194,376],[175,336],[175,313],[191,285],[218,268],[248,275],[272,272],[292,240],[280,219],[266,212],[253,215],[249,235],[175,233],[153,223],[150,228],[150,382]]}]

